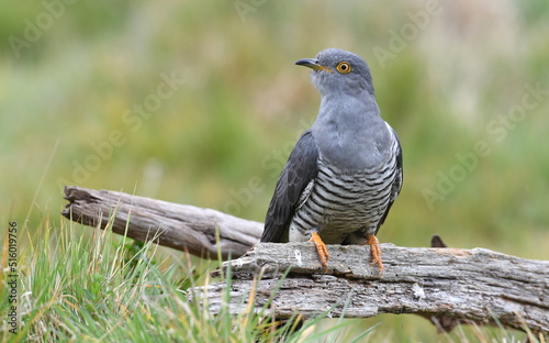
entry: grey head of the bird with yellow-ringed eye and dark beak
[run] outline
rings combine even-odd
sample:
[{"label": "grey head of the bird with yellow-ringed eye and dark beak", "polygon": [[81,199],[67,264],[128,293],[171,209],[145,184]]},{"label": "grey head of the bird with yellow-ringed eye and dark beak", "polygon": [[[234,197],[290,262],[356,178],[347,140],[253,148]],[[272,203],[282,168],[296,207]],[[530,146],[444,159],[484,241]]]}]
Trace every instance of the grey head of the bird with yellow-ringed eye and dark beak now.
[{"label": "grey head of the bird with yellow-ringed eye and dark beak", "polygon": [[311,79],[322,96],[338,93],[373,96],[370,68],[359,56],[338,48],[327,48],[315,58],[303,58],[295,63],[313,69]]}]

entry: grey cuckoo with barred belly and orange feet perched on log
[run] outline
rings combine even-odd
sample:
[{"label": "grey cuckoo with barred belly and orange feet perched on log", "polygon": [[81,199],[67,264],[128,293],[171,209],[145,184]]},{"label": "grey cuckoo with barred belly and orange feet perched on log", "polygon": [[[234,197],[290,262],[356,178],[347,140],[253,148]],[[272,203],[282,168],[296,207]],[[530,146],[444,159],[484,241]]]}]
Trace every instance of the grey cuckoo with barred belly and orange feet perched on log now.
[{"label": "grey cuckoo with barred belly and orange feet perched on log", "polygon": [[325,272],[326,244],[367,244],[381,275],[376,234],[403,184],[399,136],[380,117],[361,57],[327,48],[295,64],[312,69],[321,104],[280,174],[260,242],[311,241]]}]

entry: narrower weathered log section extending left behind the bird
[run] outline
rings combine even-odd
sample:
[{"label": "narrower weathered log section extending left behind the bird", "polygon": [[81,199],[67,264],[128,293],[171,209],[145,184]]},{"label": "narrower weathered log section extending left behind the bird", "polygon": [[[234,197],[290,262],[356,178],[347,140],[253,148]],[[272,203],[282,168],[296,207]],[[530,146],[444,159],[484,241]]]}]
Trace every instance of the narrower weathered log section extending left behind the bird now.
[{"label": "narrower weathered log section extending left behind the bird", "polygon": [[259,242],[264,224],[212,209],[177,204],[112,190],[65,187],[69,201],[61,214],[90,226],[198,256],[217,256],[216,233],[223,258],[238,257]]}]

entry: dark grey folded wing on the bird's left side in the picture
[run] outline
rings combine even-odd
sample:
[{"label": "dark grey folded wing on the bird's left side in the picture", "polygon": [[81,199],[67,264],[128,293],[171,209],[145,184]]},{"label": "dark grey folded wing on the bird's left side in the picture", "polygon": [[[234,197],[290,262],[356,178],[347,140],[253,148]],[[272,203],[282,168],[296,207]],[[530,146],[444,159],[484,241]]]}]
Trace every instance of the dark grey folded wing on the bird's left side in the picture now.
[{"label": "dark grey folded wing on the bird's left side in the picture", "polygon": [[318,174],[318,148],[311,130],[303,133],[293,148],[282,174],[265,219],[261,242],[280,242],[288,231],[295,209],[307,185]]}]

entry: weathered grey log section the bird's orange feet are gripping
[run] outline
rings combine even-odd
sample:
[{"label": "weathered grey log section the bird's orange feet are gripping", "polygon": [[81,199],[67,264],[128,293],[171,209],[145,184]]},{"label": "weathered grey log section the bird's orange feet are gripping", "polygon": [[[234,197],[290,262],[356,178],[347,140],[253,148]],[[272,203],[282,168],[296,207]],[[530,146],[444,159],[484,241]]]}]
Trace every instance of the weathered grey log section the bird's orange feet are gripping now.
[{"label": "weathered grey log section the bird's orange feet are gripping", "polygon": [[[233,278],[231,312],[242,312],[254,292],[257,311],[273,297],[267,313],[278,319],[296,311],[312,317],[332,309],[334,317],[416,313],[549,331],[549,262],[484,248],[381,244],[381,250],[385,266],[381,276],[369,264],[369,246],[357,245],[328,245],[329,274],[323,274],[313,243],[256,244],[240,258],[224,263]],[[279,285],[287,269],[290,274]],[[254,280],[260,274],[262,279]],[[225,286],[220,281],[197,288],[194,297],[216,313],[226,305],[222,301]]]}]

